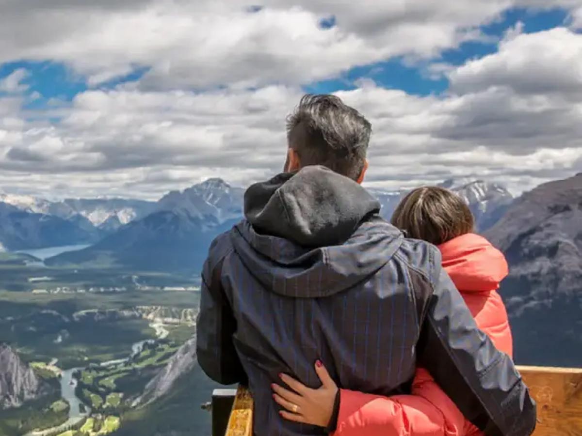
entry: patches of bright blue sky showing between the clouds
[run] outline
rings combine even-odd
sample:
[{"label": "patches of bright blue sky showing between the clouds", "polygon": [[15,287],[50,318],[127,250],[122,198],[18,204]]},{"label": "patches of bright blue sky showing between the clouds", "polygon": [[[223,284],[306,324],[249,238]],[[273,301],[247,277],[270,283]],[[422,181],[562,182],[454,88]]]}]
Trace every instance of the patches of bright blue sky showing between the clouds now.
[{"label": "patches of bright blue sky showing between the clouds", "polygon": [[[258,9],[258,6],[251,6],[250,10],[255,11],[255,8]],[[491,40],[464,42],[459,48],[445,50],[440,56],[428,60],[407,62],[404,56],[398,56],[370,65],[353,67],[338,77],[303,84],[303,88],[306,92],[315,93],[353,90],[357,88],[356,82],[359,79],[371,78],[382,87],[403,90],[409,94],[440,93],[448,88],[448,80],[446,77],[438,79],[428,77],[425,69],[430,63],[438,61],[450,65],[462,65],[469,59],[481,58],[495,53],[497,41],[503,37],[508,28],[516,26],[518,22],[523,23],[524,33],[535,33],[564,26],[568,20],[567,10],[561,8],[533,11],[524,8],[506,10],[502,13],[502,17],[495,20],[494,23],[481,26],[482,33],[490,37]],[[335,17],[333,16],[321,20],[322,27],[335,25]],[[23,81],[24,84],[30,86],[29,93],[38,92],[41,96],[34,103],[34,108],[38,108],[42,103],[46,103],[52,98],[70,100],[79,92],[89,88],[83,76],[72,72],[63,63],[51,62],[50,60],[3,63],[0,65],[0,80],[20,68],[30,72],[30,77]],[[131,74],[101,84],[99,88],[110,89],[121,83],[139,80],[146,71],[145,67],[137,68]]]}]

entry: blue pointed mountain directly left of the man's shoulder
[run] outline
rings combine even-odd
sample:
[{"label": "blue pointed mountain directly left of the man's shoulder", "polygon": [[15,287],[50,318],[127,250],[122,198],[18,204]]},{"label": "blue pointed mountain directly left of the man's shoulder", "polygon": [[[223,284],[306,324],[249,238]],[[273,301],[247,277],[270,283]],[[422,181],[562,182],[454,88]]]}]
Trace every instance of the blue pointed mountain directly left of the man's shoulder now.
[{"label": "blue pointed mountain directly left of the man's shoulder", "polygon": [[214,237],[240,220],[243,194],[242,188],[220,179],[170,192],[150,215],[87,249],[48,259],[47,264],[197,273]]}]

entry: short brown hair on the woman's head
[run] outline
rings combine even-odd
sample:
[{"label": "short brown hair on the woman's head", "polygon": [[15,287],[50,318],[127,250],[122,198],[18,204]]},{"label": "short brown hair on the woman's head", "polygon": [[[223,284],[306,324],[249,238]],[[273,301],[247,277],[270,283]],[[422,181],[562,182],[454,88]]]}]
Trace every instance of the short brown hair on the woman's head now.
[{"label": "short brown hair on the woman's head", "polygon": [[392,224],[407,237],[440,245],[471,233],[473,213],[455,192],[436,186],[417,188],[407,194],[392,214]]}]

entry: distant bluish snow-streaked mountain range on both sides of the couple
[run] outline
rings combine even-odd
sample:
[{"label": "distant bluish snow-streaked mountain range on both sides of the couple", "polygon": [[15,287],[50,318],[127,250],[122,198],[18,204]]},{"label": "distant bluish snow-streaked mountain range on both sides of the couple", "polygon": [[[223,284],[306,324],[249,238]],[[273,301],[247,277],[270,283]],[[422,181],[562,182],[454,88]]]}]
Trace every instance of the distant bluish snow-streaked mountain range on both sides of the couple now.
[{"label": "distant bluish snow-streaked mountain range on both sides of the couple", "polygon": [[[466,199],[486,230],[501,217],[513,196],[500,184],[448,180],[443,186]],[[406,192],[371,190],[389,219]],[[30,196],[0,195],[17,215],[4,214],[0,244],[8,250],[88,244],[83,251],[48,259],[48,265],[118,266],[134,270],[200,269],[208,245],[243,215],[244,189],[210,178],[157,202],[133,199],[66,199],[50,202]],[[0,209],[1,210],[1,209]],[[0,212],[1,213],[1,212]],[[26,231],[22,223],[30,223]]]}]

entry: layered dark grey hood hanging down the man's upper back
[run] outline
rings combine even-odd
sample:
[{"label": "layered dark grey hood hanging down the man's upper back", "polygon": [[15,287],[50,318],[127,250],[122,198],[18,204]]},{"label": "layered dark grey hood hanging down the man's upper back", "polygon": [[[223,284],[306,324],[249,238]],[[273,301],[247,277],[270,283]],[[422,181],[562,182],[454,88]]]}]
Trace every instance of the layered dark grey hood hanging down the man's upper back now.
[{"label": "layered dark grey hood hanging down the man's upper back", "polygon": [[244,195],[236,253],[276,294],[317,298],[353,287],[381,269],[402,233],[379,217],[378,201],[321,166],[283,173]]}]

